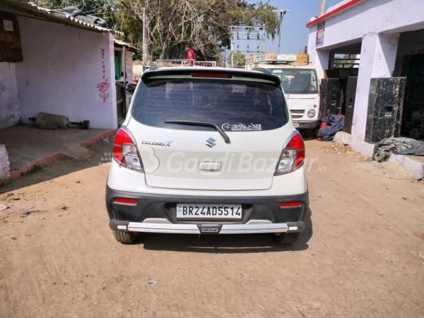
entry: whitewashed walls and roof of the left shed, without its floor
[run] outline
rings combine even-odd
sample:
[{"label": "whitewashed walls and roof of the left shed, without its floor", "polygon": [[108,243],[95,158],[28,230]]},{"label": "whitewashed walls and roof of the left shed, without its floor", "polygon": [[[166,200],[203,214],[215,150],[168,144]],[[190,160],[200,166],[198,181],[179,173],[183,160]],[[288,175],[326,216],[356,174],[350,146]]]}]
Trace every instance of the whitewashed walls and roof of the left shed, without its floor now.
[{"label": "whitewashed walls and roof of the left shed, without its floor", "polygon": [[38,112],[117,128],[113,30],[16,0],[1,1],[0,12],[2,24],[13,21],[0,26],[0,44],[19,35],[22,52],[21,61],[0,59],[0,128]]}]

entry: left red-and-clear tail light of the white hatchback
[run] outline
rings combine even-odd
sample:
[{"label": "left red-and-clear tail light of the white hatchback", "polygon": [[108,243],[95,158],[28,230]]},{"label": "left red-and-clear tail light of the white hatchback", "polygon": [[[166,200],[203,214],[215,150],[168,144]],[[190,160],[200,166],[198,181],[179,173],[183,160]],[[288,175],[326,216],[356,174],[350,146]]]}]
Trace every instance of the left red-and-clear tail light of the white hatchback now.
[{"label": "left red-and-clear tail light of the white hatchback", "polygon": [[143,162],[139,155],[136,141],[126,128],[122,127],[117,132],[113,142],[113,156],[118,163],[131,169],[144,172]]}]

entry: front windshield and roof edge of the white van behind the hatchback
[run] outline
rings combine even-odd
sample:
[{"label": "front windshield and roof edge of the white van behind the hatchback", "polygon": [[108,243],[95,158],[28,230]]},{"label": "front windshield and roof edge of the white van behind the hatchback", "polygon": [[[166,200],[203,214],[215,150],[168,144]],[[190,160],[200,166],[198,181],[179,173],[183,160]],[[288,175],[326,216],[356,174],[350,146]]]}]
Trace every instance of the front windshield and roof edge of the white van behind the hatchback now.
[{"label": "front windshield and roof edge of the white van behind the hatchback", "polygon": [[271,69],[281,79],[286,94],[317,94],[318,81],[314,69]]}]

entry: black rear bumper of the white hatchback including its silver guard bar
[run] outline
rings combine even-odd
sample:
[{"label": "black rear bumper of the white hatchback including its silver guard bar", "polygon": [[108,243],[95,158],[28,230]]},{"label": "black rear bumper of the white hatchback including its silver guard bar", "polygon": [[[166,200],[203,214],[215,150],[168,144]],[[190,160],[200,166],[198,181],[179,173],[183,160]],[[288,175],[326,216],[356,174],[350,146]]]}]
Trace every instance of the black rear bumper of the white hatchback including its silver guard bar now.
[{"label": "black rear bumper of the white hatchback including its silver guard bar", "polygon": [[[136,199],[132,205],[117,204],[116,198]],[[300,206],[281,208],[282,202],[300,202]],[[240,204],[239,221],[177,220],[177,204]],[[122,192],[106,188],[106,206],[112,230],[164,233],[264,233],[301,232],[309,206],[308,193],[289,196],[171,196]],[[206,230],[202,230],[205,228]]]}]

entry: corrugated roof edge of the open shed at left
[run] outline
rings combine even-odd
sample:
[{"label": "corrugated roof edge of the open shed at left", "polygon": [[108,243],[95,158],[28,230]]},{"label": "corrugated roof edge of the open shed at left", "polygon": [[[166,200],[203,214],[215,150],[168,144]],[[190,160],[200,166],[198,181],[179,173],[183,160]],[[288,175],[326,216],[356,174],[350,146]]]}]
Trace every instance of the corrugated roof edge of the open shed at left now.
[{"label": "corrugated roof edge of the open shed at left", "polygon": [[124,33],[102,28],[98,25],[93,25],[91,23],[86,23],[83,20],[73,18],[68,13],[58,12],[50,10],[48,8],[41,8],[32,2],[18,1],[18,0],[1,0],[0,1],[0,10],[8,11],[10,13],[25,13],[26,16],[32,15],[38,18],[43,18],[44,20],[49,20],[54,23],[66,23],[67,25],[75,26],[76,28],[84,28],[88,30],[93,30],[100,33],[112,33],[117,35],[124,35]]}]

